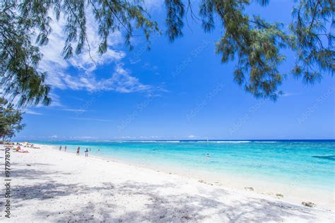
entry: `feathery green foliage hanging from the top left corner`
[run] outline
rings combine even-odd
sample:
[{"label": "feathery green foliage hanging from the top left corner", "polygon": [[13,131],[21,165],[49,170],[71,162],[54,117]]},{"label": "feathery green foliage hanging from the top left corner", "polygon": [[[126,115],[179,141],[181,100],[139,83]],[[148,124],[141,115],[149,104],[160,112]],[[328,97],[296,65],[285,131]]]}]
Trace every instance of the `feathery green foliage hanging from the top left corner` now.
[{"label": "feathery green foliage hanging from the top left corner", "polygon": [[[143,30],[149,42],[151,32],[159,32],[157,23],[141,6],[142,1],[120,0],[22,0],[0,3],[0,90],[11,98],[18,96],[18,105],[50,104],[50,86],[45,84],[46,73],[38,69],[42,59],[39,46],[48,43],[53,11],[56,19],[64,16],[64,59],[80,54],[86,45],[86,8],[93,11],[98,23],[100,54],[107,51],[110,33],[123,30],[124,42],[132,49],[134,29]],[[31,42],[37,32],[36,42]],[[37,45],[37,46],[36,46]]]}]

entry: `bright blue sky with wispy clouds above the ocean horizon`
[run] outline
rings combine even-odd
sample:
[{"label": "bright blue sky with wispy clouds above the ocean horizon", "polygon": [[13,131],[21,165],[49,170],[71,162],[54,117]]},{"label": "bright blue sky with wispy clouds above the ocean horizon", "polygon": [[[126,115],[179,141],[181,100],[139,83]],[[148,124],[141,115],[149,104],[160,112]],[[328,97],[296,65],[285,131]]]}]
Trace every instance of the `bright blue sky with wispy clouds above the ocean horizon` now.
[{"label": "bright blue sky with wispy clouds above the ocean horizon", "polygon": [[[163,1],[162,1],[163,2]],[[165,30],[165,8],[147,1],[152,18]],[[196,1],[193,1],[197,11]],[[290,23],[292,1],[271,1],[247,8],[272,22]],[[168,140],[168,139],[334,139],[335,82],[327,73],[320,83],[304,85],[290,76],[292,52],[280,68],[288,78],[276,102],[255,99],[233,81],[234,62],[221,63],[216,30],[204,33],[189,19],[184,36],[171,43],[153,35],[151,50],[134,37],[124,47],[122,33],[110,36],[107,53],[98,56],[99,37],[88,19],[87,50],[62,59],[61,24],[52,23],[49,44],[42,48],[40,69],[52,85],[52,104],[28,107],[27,125],[16,140]]]}]

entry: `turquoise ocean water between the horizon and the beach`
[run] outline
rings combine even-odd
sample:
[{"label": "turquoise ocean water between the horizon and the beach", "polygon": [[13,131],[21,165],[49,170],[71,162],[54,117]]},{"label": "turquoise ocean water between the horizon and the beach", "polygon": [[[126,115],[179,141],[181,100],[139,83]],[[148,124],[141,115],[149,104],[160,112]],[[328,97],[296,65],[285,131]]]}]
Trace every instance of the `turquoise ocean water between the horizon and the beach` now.
[{"label": "turquoise ocean water between the horizon and the beach", "polygon": [[[184,173],[234,176],[319,189],[334,194],[335,140],[266,141],[35,141],[67,145],[68,152]],[[100,151],[98,151],[100,149]],[[207,153],[209,157],[207,157]]]}]

